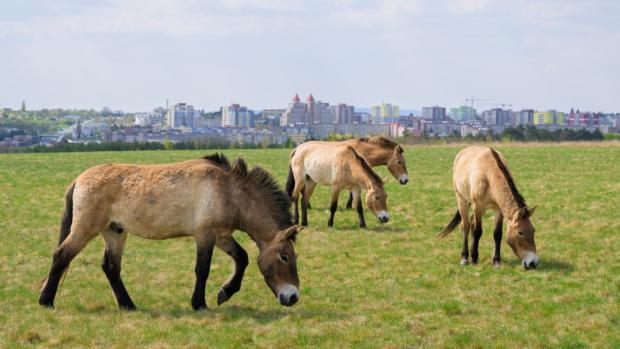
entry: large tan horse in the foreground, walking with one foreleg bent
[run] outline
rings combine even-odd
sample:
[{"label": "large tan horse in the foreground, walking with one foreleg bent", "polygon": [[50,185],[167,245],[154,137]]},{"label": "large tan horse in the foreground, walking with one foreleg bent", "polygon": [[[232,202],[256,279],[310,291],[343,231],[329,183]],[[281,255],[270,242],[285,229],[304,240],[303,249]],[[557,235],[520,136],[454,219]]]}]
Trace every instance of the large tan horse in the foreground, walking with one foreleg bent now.
[{"label": "large tan horse in the foreground, walking with one foreleg bent", "polygon": [[258,267],[280,304],[299,299],[290,200],[260,167],[231,166],[222,154],[164,165],[107,164],[92,167],[71,184],[65,198],[59,246],[39,298],[53,307],[71,260],[98,234],[105,240],[103,271],[121,309],[132,302],[120,277],[128,234],[147,239],[192,236],[196,241],[195,310],[207,307],[205,285],[217,246],[232,257],[235,271],[219,290],[218,305],[239,291],[248,255],[232,236],[247,232],[259,248]]}]

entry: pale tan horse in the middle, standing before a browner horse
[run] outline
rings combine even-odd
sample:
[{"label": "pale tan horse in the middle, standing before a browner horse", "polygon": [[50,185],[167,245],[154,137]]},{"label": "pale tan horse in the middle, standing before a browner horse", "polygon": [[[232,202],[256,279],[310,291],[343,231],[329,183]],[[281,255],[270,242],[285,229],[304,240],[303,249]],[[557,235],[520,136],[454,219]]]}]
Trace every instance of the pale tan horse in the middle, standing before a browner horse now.
[{"label": "pale tan horse in the middle, standing before a browner horse", "polygon": [[[387,194],[383,181],[372,170],[366,159],[351,146],[334,147],[326,142],[306,142],[295,148],[289,163],[286,191],[295,203],[295,222],[299,222],[299,194],[301,202],[301,225],[308,225],[308,200],[317,184],[332,187],[331,214],[327,226],[334,225],[334,214],[338,208],[338,196],[342,189],[353,191],[357,203],[360,227],[366,226],[362,207],[361,189],[366,191],[366,205],[381,223],[389,219]],[[297,224],[297,223],[295,223]]]}]

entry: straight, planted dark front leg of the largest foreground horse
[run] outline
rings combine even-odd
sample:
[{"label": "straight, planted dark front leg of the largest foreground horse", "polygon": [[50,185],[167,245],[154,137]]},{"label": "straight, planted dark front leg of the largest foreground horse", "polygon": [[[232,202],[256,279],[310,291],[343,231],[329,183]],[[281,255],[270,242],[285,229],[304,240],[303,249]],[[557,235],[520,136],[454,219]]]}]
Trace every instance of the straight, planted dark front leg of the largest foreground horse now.
[{"label": "straight, planted dark front leg of the largest foreground horse", "polygon": [[194,286],[194,294],[192,295],[192,308],[201,310],[207,308],[205,302],[205,287],[209,278],[209,270],[211,269],[211,257],[213,256],[213,247],[215,246],[215,237],[209,233],[196,235],[196,285]]}]

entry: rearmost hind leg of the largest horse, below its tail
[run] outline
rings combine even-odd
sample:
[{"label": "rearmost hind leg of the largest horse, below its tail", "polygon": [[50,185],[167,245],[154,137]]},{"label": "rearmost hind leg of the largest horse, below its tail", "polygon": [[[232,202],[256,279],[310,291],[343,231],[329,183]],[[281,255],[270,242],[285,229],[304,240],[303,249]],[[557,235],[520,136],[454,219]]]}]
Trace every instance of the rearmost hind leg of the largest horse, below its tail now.
[{"label": "rearmost hind leg of the largest horse, below its tail", "polygon": [[[77,220],[74,218],[74,221]],[[73,224],[69,236],[54,252],[52,266],[39,296],[39,304],[50,308],[54,307],[54,298],[56,298],[58,283],[62,275],[73,258],[82,251],[93,237],[97,236],[96,231],[95,227]]]}]

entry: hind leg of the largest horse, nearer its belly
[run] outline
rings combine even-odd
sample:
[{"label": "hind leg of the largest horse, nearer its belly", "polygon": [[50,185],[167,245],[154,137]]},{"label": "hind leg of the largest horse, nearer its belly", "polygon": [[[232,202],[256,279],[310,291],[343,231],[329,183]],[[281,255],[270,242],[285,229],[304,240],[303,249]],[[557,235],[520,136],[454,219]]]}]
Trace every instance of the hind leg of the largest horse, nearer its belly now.
[{"label": "hind leg of the largest horse, nearer its belly", "polygon": [[119,233],[107,229],[102,235],[106,247],[101,268],[110,282],[112,291],[114,291],[114,297],[116,297],[118,307],[123,310],[134,310],[136,306],[133,304],[131,297],[129,297],[129,293],[127,293],[127,289],[121,279],[121,259],[123,258],[127,232],[121,231]]}]

